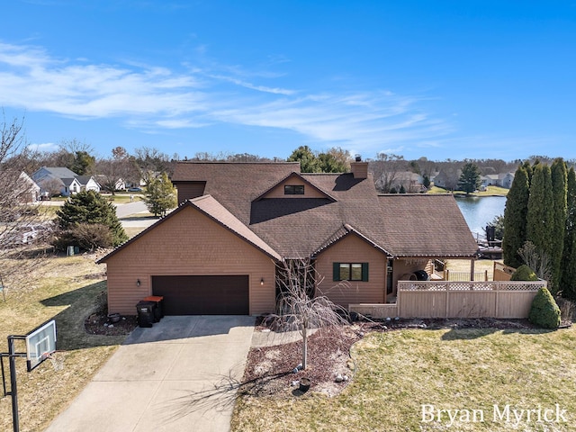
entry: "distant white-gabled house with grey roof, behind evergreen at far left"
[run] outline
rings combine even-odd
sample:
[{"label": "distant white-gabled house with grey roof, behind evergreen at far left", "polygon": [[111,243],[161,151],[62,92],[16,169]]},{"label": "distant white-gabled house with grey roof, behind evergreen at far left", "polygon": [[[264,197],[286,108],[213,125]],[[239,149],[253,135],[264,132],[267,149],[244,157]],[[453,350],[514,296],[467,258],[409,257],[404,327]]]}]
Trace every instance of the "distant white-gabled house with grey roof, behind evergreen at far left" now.
[{"label": "distant white-gabled house with grey roof, behind evergreen at far left", "polygon": [[31,175],[41,189],[41,193],[70,196],[81,191],[100,192],[100,184],[90,175],[77,175],[63,166],[42,166]]}]

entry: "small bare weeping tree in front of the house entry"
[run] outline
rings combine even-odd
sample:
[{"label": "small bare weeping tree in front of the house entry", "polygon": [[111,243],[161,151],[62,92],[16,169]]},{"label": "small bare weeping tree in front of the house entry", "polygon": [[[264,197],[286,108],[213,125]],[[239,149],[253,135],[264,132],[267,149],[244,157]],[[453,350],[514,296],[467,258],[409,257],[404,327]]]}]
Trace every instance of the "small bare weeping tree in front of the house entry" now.
[{"label": "small bare weeping tree in front of the house entry", "polygon": [[[308,365],[308,336],[311,329],[335,327],[347,323],[347,311],[315,292],[323,278],[310,258],[284,260],[278,265],[276,286],[280,288],[277,324],[284,329],[298,329],[302,335],[302,369]],[[345,289],[347,283],[334,289]],[[340,312],[340,313],[338,313]]]}]

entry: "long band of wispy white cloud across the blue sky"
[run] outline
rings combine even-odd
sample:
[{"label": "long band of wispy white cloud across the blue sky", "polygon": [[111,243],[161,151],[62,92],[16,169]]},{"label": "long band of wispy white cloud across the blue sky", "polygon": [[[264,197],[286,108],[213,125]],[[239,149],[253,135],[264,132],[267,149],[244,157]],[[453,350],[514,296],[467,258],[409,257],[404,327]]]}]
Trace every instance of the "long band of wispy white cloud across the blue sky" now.
[{"label": "long band of wispy white cloud across the blue sky", "polygon": [[185,67],[180,73],[155,65],[90,64],[0,43],[0,105],[79,120],[114,118],[148,132],[219,122],[293,130],[358,151],[439,139],[453,130],[422,111],[424,100],[415,96],[374,89],[317,94],[269,85],[282,83],[280,74]]}]

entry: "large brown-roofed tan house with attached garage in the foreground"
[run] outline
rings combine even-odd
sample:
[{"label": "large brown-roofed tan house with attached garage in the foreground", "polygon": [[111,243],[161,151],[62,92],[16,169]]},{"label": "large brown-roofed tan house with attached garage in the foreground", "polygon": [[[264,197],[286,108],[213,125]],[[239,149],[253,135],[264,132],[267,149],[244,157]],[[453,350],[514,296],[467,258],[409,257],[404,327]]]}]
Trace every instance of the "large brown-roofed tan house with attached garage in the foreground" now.
[{"label": "large brown-roofed tan house with attached garage in the foreground", "polygon": [[[178,163],[179,207],[98,261],[107,265],[109,311],[133,315],[153,294],[168,315],[274,312],[278,264],[300,258],[323,276],[317,294],[346,308],[385,303],[406,275],[429,273],[431,259],[475,259],[452,195],[379,195],[367,169]],[[342,280],[349,288],[331,289]]]}]

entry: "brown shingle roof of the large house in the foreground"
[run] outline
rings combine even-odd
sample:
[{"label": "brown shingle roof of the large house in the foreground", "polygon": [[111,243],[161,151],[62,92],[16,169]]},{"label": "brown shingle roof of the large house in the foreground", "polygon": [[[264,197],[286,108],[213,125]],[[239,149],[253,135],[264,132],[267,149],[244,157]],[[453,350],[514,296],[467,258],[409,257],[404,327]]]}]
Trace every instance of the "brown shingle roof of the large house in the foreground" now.
[{"label": "brown shingle roof of the large house in the foreground", "polygon": [[[327,198],[263,197],[293,172]],[[190,205],[277,259],[321,253],[351,232],[394,257],[473,257],[478,248],[452,195],[378,195],[372,175],[300,174],[298,163],[184,162],[173,181],[205,181],[211,196]]]}]

